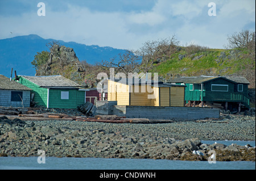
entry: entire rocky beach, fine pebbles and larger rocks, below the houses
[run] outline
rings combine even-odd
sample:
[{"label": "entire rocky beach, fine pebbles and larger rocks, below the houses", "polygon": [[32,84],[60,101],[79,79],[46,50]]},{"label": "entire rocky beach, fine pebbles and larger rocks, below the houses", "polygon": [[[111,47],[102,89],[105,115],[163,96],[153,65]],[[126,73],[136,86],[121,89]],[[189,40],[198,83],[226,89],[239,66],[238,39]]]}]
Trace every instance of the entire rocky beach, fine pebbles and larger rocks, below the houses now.
[{"label": "entire rocky beach, fine pebbles and larger rocks, below the houses", "polygon": [[[255,161],[246,145],[203,144],[201,140],[255,141],[254,115],[221,115],[217,120],[161,124],[113,124],[86,121],[22,121],[0,117],[0,156],[149,158],[207,161]],[[204,155],[193,154],[199,150]]]}]

